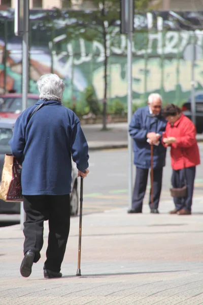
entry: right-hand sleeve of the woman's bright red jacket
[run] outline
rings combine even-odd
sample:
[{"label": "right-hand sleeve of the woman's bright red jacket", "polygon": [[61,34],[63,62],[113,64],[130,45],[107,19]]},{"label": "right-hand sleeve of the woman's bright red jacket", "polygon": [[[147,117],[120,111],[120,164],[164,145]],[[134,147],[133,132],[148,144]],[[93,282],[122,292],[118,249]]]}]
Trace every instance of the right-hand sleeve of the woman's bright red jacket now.
[{"label": "right-hand sleeve of the woman's bright red jacket", "polygon": [[179,147],[190,147],[196,142],[196,128],[192,122],[185,125],[184,136],[177,137],[176,143],[173,143],[173,146],[176,148]]}]

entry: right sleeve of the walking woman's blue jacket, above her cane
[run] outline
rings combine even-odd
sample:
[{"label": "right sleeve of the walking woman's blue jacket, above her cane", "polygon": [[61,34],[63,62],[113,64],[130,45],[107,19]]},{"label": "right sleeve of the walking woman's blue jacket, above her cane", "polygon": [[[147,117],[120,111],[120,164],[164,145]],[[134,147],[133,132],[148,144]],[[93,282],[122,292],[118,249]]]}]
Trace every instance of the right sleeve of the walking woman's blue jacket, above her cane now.
[{"label": "right sleeve of the walking woman's blue jacket, above her cane", "polygon": [[73,161],[77,164],[77,168],[80,171],[84,171],[85,169],[87,169],[89,166],[88,144],[85,135],[81,129],[79,119],[72,127],[71,151]]}]

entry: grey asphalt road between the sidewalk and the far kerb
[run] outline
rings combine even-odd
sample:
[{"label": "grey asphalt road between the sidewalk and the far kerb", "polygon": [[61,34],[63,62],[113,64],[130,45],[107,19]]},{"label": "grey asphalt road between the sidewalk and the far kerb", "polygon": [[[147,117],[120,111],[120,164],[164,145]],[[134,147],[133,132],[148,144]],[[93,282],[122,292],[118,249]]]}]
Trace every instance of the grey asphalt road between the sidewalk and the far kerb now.
[{"label": "grey asphalt road between the sidewalk and the far kerb", "polygon": [[[203,156],[203,144],[199,144],[200,154]],[[127,149],[112,149],[90,151],[90,173],[84,179],[83,213],[104,211],[128,206],[128,151]],[[203,165],[197,166],[194,196],[202,195]],[[166,166],[163,170],[163,186],[161,200],[171,200],[171,162],[169,150],[166,157]],[[134,183],[135,168],[133,166]],[[80,182],[80,180],[79,180]],[[148,204],[150,179],[144,203]],[[80,183],[78,192],[80,192]],[[160,201],[161,204],[161,201]],[[172,206],[173,207],[173,206]],[[0,215],[0,226],[14,224],[18,221],[17,215]],[[2,222],[4,221],[4,222]],[[14,221],[14,223],[12,222]]]}]

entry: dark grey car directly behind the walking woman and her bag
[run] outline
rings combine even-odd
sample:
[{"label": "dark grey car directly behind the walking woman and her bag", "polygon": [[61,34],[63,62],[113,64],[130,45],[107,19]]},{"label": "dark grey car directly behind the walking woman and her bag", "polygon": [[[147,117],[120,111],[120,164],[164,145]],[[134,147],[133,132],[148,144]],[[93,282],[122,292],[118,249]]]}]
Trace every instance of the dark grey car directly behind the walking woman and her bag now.
[{"label": "dark grey car directly behind the walking woman and her bag", "polygon": [[[0,175],[4,165],[5,154],[11,153],[9,140],[13,135],[13,128],[16,119],[0,119]],[[78,170],[76,164],[72,162],[72,192],[71,192],[71,215],[78,214]],[[0,214],[20,214],[20,202],[5,202],[0,199]]]}]

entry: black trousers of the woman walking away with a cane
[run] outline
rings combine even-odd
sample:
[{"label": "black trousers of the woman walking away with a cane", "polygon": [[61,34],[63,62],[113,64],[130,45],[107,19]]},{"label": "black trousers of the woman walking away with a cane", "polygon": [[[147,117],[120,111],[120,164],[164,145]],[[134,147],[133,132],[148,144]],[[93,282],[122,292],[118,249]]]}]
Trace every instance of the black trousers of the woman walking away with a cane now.
[{"label": "black trousers of the woman walking away with a cane", "polygon": [[39,261],[44,242],[44,221],[49,220],[47,260],[44,269],[59,272],[70,231],[70,195],[23,196],[23,206],[27,216],[23,230],[24,254],[28,250],[33,250],[34,262]]}]

